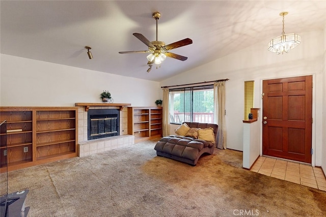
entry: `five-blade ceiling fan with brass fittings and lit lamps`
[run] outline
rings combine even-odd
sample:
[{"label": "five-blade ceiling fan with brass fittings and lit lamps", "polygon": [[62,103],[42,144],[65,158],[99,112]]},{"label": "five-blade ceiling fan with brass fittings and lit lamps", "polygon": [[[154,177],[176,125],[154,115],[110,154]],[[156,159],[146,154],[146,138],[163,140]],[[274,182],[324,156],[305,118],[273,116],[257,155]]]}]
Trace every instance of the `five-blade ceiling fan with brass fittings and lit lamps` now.
[{"label": "five-blade ceiling fan with brass fittings and lit lamps", "polygon": [[167,56],[171,57],[171,58],[179,59],[179,60],[182,60],[182,61],[186,60],[188,58],[186,56],[181,56],[181,55],[171,53],[171,52],[167,52],[167,51],[193,43],[193,40],[191,40],[189,38],[186,38],[186,39],[183,39],[181,41],[177,41],[177,42],[174,42],[174,43],[168,44],[168,45],[165,45],[164,42],[158,41],[157,40],[157,20],[160,18],[160,16],[161,16],[161,14],[159,12],[153,13],[153,18],[156,20],[156,41],[150,42],[145,36],[143,36],[140,33],[132,34],[136,38],[141,40],[144,44],[146,44],[148,46],[149,50],[144,50],[144,51],[121,51],[121,52],[119,52],[119,53],[122,53],[122,54],[124,54],[124,53],[150,53],[147,56],[147,59],[148,59],[147,64],[150,67],[147,70],[147,72],[150,71],[153,64],[160,65],[162,63],[162,61],[164,61],[167,58]]}]

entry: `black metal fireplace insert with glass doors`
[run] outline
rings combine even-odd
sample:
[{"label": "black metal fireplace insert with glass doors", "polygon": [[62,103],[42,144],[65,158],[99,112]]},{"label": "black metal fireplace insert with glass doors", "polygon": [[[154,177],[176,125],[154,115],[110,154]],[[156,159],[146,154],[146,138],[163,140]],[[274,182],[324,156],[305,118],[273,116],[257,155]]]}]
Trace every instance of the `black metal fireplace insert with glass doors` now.
[{"label": "black metal fireplace insert with glass doors", "polygon": [[88,140],[119,136],[119,109],[88,110]]}]

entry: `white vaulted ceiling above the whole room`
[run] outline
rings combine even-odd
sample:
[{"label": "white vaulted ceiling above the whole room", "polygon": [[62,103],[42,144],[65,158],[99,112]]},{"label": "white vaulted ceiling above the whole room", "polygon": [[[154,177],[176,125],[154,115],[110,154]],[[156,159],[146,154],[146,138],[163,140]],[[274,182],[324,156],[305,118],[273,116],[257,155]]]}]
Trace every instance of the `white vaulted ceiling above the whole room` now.
[{"label": "white vaulted ceiling above the whole room", "polygon": [[[1,53],[50,63],[161,81],[257,42],[326,26],[326,1],[1,1]],[[148,69],[148,50],[133,33],[158,41],[193,44]],[[302,39],[304,43],[304,39]],[[92,47],[89,59],[85,46]]]}]

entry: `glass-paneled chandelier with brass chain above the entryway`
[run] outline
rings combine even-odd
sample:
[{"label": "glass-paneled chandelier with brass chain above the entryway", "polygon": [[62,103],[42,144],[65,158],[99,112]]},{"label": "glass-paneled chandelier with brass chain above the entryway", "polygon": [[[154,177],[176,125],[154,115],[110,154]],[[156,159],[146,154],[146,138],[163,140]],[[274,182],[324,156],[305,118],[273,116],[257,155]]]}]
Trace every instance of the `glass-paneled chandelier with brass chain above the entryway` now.
[{"label": "glass-paneled chandelier with brass chain above the entryway", "polygon": [[268,44],[268,50],[277,54],[280,53],[288,53],[291,49],[295,48],[296,45],[301,43],[301,36],[290,33],[284,33],[284,16],[287,15],[288,12],[281,12],[280,16],[283,17],[283,32],[281,36],[278,36],[272,39]]}]

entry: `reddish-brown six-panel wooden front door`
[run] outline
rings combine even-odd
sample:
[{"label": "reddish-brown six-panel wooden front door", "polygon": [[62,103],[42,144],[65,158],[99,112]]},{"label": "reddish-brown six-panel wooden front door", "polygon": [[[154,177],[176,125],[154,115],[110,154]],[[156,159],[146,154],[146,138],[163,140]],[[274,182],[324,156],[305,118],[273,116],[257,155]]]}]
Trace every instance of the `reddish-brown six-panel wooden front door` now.
[{"label": "reddish-brown six-panel wooden front door", "polygon": [[311,163],[312,76],[263,81],[263,154]]}]

